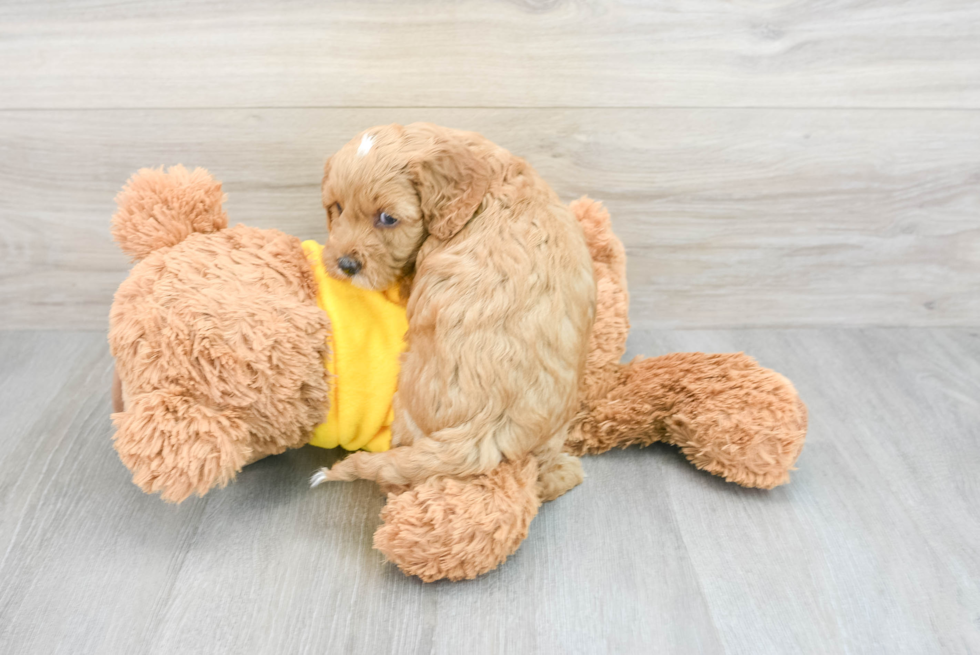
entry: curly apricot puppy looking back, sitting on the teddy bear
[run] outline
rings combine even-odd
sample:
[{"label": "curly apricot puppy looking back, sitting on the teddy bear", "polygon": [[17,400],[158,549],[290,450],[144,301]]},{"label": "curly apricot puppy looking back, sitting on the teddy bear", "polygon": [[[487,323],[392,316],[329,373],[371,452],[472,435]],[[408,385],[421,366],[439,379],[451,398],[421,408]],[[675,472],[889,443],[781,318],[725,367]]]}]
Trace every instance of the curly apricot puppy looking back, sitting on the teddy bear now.
[{"label": "curly apricot puppy looking back, sitting on the teddy bear", "polygon": [[474,132],[388,125],[330,158],[322,193],[327,270],[411,290],[394,447],[317,481],[412,486],[530,455],[542,501],[581,482],[561,449],[595,312],[592,261],[534,169]]}]

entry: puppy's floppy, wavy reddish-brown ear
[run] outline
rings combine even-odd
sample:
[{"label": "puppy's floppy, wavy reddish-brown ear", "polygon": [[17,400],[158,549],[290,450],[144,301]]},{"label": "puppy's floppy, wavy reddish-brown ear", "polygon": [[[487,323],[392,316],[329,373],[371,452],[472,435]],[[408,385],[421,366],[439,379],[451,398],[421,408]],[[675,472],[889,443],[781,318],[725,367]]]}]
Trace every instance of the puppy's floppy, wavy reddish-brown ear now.
[{"label": "puppy's floppy, wavy reddish-brown ear", "polygon": [[490,187],[490,165],[451,135],[436,134],[411,170],[426,229],[443,241],[473,218]]}]

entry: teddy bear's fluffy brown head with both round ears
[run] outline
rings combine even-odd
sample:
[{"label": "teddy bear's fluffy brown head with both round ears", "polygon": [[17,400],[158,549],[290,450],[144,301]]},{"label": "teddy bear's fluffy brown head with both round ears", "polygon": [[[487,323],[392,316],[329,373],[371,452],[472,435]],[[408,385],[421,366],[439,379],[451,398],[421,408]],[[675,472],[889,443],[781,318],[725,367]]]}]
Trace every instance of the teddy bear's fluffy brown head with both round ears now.
[{"label": "teddy bear's fluffy brown head with both round ears", "polygon": [[141,171],[113,218],[142,259],[109,316],[125,404],[115,446],[136,484],[173,501],[305,444],[328,406],[329,321],[300,242],[221,229],[220,189],[201,169]]}]

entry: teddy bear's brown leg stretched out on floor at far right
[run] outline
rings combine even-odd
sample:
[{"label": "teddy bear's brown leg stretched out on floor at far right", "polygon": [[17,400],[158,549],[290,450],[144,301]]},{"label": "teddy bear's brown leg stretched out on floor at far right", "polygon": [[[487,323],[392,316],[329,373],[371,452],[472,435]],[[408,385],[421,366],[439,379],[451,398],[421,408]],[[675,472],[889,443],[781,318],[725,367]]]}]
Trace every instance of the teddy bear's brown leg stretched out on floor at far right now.
[{"label": "teddy bear's brown leg stretched out on floor at far right", "polygon": [[[673,353],[636,359],[620,384],[594,399],[573,453],[666,441],[698,468],[730,482],[772,488],[806,437],[806,406],[793,385],[742,353]],[[584,436],[582,436],[584,435]]]}]

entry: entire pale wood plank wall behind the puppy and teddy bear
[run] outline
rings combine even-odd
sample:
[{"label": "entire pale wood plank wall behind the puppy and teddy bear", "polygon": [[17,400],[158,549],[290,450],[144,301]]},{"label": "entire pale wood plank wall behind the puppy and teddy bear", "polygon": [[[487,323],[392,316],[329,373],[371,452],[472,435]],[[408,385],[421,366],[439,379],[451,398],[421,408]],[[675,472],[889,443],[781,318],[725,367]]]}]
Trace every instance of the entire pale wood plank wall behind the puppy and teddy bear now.
[{"label": "entire pale wood plank wall behind the puppy and teddy bear", "polygon": [[136,169],[322,239],[325,157],[414,120],[604,200],[634,325],[980,325],[971,0],[14,0],[0,64],[3,328],[105,326]]}]

